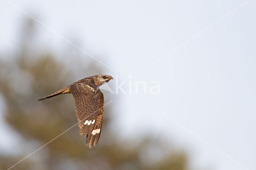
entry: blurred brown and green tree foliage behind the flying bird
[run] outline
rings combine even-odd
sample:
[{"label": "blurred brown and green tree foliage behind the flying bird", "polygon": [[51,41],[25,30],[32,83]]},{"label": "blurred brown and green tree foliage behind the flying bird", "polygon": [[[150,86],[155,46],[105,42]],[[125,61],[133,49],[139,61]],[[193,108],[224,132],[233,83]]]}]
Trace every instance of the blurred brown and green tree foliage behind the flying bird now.
[{"label": "blurred brown and green tree foliage behind the flying bird", "polygon": [[[8,169],[28,154],[48,143],[77,123],[72,95],[38,102],[42,96],[77,80],[76,73],[50,52],[37,49],[37,28],[33,20],[22,27],[20,46],[16,52],[0,60],[0,93],[6,104],[4,117],[8,124],[22,136],[14,150],[18,155],[0,153],[0,169]],[[8,59],[7,59],[8,58]],[[75,62],[75,61],[74,61]],[[78,63],[72,63],[78,65]],[[88,68],[76,68],[87,76],[101,72],[94,61]],[[84,70],[85,69],[85,70]],[[80,78],[84,78],[80,75]],[[105,109],[104,128],[97,147],[89,149],[73,127],[38,152],[20,162],[12,169],[90,169],[90,170],[185,170],[187,156],[184,152],[158,147],[164,145],[159,139],[146,138],[133,146],[118,141],[107,128],[111,106]],[[142,136],[143,137],[143,136]],[[150,152],[160,149],[162,155]]]}]

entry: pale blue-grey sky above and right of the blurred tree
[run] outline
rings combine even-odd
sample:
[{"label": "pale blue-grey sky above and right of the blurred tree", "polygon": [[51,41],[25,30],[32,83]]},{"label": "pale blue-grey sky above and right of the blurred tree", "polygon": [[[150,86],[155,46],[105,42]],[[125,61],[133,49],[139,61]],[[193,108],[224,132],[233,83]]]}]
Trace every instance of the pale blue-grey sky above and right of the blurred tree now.
[{"label": "pale blue-grey sky above and right of the blurred tree", "polygon": [[[98,63],[125,81],[126,92],[131,82],[132,94],[111,95],[120,137],[167,137],[189,153],[193,168],[256,169],[255,1],[10,2],[46,25],[36,25],[44,46],[61,53],[68,39],[111,68]],[[5,53],[16,47],[27,15],[6,0],[0,11]],[[160,94],[144,94],[142,86],[135,94],[135,81],[145,81],[148,91],[159,82]],[[109,86],[115,92],[116,79]],[[0,148],[9,138],[0,139]]]}]

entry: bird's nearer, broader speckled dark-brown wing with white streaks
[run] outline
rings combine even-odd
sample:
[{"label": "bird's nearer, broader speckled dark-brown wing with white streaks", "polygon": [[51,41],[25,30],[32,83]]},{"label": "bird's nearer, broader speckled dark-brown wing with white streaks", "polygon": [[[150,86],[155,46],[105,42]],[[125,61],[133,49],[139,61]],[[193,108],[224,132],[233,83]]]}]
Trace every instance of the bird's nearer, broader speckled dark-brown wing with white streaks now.
[{"label": "bird's nearer, broader speckled dark-brown wing with white streaks", "polygon": [[[76,83],[70,86],[74,97],[76,117],[80,127],[80,135],[83,135],[86,145],[89,144],[91,136],[98,134],[94,131],[97,122],[97,114],[100,112],[100,90],[92,84]],[[95,133],[95,134],[94,134]],[[89,145],[92,147],[92,145]]]}]

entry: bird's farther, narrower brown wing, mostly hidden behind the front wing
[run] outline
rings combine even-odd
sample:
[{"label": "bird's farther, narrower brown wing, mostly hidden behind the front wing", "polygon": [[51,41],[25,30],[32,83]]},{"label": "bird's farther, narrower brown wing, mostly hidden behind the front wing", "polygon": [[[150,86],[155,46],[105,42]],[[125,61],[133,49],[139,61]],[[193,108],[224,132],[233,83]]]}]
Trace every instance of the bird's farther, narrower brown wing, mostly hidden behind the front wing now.
[{"label": "bird's farther, narrower brown wing, mostly hidden behind the front wing", "polygon": [[100,92],[99,98],[99,107],[98,107],[98,114],[96,118],[96,122],[92,131],[92,135],[88,138],[86,145],[92,147],[92,145],[96,146],[102,130],[102,121],[103,121],[103,113],[104,113],[104,96],[102,92]]}]

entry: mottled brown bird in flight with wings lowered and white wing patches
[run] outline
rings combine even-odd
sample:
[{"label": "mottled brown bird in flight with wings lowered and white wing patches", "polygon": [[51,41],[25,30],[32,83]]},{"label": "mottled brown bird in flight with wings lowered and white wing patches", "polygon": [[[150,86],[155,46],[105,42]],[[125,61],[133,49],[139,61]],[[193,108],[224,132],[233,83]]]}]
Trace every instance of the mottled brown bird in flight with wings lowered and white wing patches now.
[{"label": "mottled brown bird in flight with wings lowered and white wing patches", "polygon": [[97,145],[102,129],[104,96],[99,87],[111,79],[111,76],[103,74],[86,77],[39,100],[71,93],[74,97],[80,135],[84,136],[86,146],[91,148],[92,145]]}]

